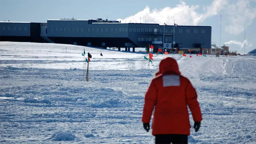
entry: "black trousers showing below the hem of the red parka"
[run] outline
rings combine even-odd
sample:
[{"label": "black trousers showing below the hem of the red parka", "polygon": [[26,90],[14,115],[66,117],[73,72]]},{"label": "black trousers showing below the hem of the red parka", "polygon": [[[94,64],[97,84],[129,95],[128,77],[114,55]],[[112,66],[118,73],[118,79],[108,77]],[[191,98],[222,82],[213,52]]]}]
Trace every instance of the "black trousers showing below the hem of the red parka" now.
[{"label": "black trousers showing below the hem of the red parka", "polygon": [[156,144],[187,144],[188,135],[186,134],[156,134]]}]

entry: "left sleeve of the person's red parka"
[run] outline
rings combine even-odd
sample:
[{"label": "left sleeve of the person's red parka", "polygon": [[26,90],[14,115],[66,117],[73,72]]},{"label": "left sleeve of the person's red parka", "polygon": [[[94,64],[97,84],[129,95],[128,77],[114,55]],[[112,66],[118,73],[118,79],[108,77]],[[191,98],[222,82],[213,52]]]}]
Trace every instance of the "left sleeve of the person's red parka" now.
[{"label": "left sleeve of the person's red parka", "polygon": [[142,121],[144,123],[149,123],[150,118],[157,100],[157,87],[154,84],[154,80],[152,80],[148,90],[145,94],[145,104],[143,108]]}]

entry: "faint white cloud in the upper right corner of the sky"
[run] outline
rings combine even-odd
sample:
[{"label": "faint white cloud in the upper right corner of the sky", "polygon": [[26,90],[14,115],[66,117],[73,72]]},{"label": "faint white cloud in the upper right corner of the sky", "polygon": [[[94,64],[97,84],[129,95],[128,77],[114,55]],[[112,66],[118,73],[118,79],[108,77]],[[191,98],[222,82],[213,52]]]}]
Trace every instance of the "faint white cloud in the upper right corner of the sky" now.
[{"label": "faint white cloud in the upper right corner of the sky", "polygon": [[238,0],[236,4],[228,4],[225,8],[227,26],[225,30],[230,34],[240,34],[252,24],[256,18],[256,6],[251,7],[250,3],[256,1]]}]

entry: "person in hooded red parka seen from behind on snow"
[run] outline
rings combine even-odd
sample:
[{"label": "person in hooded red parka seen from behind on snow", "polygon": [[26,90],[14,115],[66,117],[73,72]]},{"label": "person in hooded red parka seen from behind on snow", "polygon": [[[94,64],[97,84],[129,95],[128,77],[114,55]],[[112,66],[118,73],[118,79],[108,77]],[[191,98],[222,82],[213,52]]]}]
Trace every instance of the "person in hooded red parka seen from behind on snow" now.
[{"label": "person in hooded red parka seen from behind on snow", "polygon": [[181,76],[177,61],[166,57],[160,62],[159,71],[145,94],[142,115],[144,129],[148,132],[155,107],[152,125],[155,143],[188,143],[191,126],[187,105],[192,112],[197,132],[202,114],[196,90],[186,77]]}]

